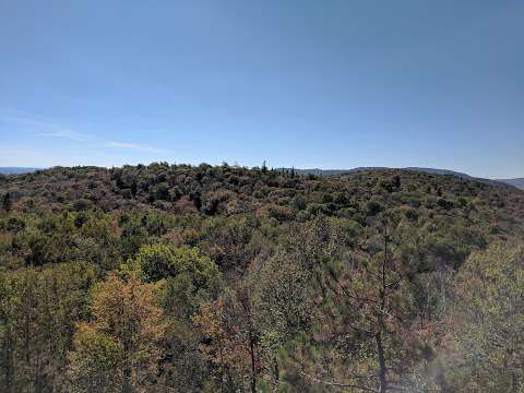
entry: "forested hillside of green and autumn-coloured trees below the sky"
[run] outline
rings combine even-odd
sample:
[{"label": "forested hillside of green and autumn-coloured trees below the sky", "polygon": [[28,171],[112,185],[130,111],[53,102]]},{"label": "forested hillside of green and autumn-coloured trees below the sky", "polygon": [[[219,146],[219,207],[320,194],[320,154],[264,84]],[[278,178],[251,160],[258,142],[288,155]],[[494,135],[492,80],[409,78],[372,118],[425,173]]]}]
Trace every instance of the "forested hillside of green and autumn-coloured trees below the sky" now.
[{"label": "forested hillside of green and autumn-coloured trees below the sky", "polygon": [[524,389],[522,190],[155,163],[0,198],[1,392]]}]

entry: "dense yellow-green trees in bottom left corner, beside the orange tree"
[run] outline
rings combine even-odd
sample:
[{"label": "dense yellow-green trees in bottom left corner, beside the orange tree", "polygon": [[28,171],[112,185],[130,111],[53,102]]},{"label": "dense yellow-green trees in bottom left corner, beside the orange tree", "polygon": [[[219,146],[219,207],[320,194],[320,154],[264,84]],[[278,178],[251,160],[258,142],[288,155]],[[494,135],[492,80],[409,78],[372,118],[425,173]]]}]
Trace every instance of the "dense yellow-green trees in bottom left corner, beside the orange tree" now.
[{"label": "dense yellow-green trees in bottom left corner, beside the orange tree", "polygon": [[67,352],[85,317],[93,265],[71,262],[0,273],[0,385],[64,392]]}]

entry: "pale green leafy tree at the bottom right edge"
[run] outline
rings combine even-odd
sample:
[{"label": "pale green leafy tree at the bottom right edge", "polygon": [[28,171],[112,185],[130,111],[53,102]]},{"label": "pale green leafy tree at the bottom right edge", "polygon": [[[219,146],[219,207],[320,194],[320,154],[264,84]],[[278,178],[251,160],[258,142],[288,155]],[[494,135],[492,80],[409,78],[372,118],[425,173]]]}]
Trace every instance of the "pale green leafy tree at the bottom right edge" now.
[{"label": "pale green leafy tree at the bottom right edge", "polygon": [[496,243],[468,258],[454,283],[448,329],[458,356],[451,385],[524,391],[523,246]]}]

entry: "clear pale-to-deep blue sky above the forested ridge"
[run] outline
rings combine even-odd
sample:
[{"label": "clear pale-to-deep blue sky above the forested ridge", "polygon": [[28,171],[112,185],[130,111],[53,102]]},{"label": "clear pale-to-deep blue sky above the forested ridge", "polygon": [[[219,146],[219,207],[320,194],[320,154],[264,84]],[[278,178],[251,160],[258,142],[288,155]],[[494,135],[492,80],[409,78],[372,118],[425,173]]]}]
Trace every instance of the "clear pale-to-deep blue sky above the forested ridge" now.
[{"label": "clear pale-to-deep blue sky above the forested ridge", "polygon": [[0,0],[0,166],[524,176],[524,2]]}]

